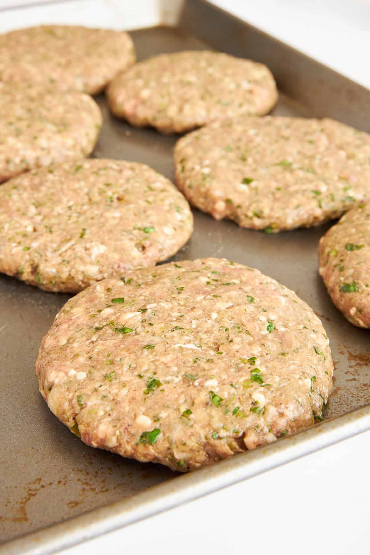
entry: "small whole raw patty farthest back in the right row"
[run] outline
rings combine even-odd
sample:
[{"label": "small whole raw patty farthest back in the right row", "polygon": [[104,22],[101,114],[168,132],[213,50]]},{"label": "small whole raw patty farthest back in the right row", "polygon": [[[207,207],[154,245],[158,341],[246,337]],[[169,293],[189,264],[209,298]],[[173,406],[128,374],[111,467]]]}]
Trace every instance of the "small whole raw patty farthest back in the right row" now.
[{"label": "small whole raw patty farthest back in the right row", "polygon": [[227,115],[266,114],[276,100],[265,65],[208,51],[149,58],[117,75],[108,88],[117,117],[161,133],[181,133]]}]

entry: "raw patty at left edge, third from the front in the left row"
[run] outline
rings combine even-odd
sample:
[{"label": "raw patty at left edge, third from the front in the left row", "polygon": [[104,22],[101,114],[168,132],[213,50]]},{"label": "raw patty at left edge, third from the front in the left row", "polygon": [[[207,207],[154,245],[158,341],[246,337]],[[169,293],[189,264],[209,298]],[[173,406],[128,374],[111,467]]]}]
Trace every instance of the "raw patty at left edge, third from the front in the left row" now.
[{"label": "raw patty at left edge, third from the front in the left row", "polygon": [[0,83],[0,183],[31,168],[88,156],[101,126],[98,104],[87,94]]}]

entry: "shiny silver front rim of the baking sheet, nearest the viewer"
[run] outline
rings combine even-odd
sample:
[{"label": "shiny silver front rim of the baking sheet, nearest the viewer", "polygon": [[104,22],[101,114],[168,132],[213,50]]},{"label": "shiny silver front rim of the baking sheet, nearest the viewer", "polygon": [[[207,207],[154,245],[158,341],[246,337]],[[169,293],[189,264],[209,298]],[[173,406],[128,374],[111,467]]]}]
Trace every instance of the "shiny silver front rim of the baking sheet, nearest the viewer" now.
[{"label": "shiny silver front rim of the baking sheet, nearest the viewer", "polygon": [[3,544],[0,555],[49,555],[124,528],[370,430],[370,403],[283,440]]}]

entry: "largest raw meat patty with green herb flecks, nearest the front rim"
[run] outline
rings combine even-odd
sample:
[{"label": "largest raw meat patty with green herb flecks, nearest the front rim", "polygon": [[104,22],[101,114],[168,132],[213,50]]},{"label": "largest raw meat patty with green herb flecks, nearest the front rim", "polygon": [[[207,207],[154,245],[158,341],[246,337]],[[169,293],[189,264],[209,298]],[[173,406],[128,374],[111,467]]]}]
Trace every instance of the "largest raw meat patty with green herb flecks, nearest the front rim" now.
[{"label": "largest raw meat patty with green herb flecks, nearest the front rim", "polygon": [[320,320],[259,270],[199,259],[70,299],[36,362],[82,440],[186,471],[322,420],[333,362]]}]

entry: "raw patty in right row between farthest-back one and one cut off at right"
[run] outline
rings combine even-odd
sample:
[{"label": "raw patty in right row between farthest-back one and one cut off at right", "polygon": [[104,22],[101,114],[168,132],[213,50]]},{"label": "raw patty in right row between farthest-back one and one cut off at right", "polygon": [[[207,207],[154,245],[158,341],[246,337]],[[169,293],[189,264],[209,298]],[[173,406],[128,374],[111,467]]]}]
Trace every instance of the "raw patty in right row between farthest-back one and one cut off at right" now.
[{"label": "raw patty in right row between farthest-back one and one cut off at right", "polygon": [[227,119],[178,141],[176,184],[217,220],[310,227],[370,193],[369,152],[369,134],[332,119]]}]

